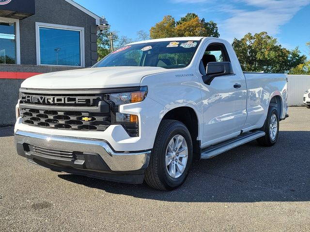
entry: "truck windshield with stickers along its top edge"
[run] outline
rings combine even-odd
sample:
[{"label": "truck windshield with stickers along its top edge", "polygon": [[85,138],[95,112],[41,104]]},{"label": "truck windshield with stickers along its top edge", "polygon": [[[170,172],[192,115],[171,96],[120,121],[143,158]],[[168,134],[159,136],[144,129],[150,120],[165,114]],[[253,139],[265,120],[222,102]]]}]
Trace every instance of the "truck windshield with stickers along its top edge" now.
[{"label": "truck windshield with stickers along its top edge", "polygon": [[186,67],[200,41],[138,43],[121,47],[93,67],[151,66],[165,69]]}]

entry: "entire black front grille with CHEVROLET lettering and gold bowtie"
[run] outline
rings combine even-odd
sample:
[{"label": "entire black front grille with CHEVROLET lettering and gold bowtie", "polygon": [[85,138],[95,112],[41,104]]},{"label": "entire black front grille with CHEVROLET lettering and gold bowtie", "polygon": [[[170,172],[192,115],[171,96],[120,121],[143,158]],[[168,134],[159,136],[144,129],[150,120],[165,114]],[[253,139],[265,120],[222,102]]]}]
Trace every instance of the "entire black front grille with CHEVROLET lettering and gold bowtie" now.
[{"label": "entire black front grille with CHEVROLET lettering and gold bowtie", "polygon": [[22,123],[61,130],[105,131],[111,106],[101,90],[20,89]]}]

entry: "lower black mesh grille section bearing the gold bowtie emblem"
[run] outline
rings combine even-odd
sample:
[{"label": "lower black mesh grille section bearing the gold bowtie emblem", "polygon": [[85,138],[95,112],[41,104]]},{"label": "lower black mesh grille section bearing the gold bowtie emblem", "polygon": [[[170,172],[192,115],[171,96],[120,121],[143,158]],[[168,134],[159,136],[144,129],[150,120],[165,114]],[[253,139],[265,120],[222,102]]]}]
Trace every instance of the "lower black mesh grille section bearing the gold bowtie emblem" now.
[{"label": "lower black mesh grille section bearing the gold bowtie emblem", "polygon": [[56,129],[105,131],[111,125],[108,113],[21,109],[22,123]]}]

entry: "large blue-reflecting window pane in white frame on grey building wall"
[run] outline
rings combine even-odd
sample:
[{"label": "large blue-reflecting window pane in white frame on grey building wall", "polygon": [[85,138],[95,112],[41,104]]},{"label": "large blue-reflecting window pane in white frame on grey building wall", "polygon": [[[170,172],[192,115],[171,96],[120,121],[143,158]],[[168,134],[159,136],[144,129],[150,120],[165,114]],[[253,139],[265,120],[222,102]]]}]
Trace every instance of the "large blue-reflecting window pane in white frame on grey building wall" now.
[{"label": "large blue-reflecting window pane in white frame on grey building wall", "polygon": [[80,32],[39,28],[40,64],[81,66]]}]

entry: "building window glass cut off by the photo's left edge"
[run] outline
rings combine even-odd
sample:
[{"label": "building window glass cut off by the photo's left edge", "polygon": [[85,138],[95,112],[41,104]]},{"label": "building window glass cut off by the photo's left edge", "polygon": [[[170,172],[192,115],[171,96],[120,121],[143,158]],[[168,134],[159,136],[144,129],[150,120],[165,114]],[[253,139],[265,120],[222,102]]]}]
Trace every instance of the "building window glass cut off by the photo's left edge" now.
[{"label": "building window glass cut off by the photo's left edge", "polygon": [[0,64],[15,63],[15,23],[0,22]]}]

